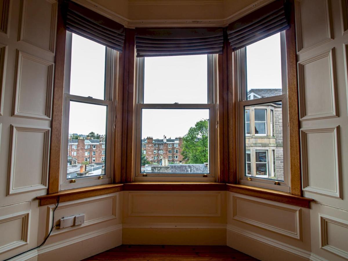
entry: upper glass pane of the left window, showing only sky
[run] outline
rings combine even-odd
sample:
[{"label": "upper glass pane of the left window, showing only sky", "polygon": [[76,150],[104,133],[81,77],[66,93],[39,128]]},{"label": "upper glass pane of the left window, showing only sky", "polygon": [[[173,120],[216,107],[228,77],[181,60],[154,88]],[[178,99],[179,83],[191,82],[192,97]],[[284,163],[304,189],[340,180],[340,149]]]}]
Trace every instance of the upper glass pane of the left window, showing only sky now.
[{"label": "upper glass pane of the left window, showing only sky", "polygon": [[70,94],[104,100],[106,47],[72,34]]}]

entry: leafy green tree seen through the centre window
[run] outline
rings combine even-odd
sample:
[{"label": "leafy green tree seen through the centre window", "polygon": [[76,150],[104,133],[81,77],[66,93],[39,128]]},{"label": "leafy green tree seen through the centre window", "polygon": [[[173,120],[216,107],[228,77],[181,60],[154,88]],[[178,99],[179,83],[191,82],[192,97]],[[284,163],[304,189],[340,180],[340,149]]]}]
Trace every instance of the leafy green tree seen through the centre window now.
[{"label": "leafy green tree seen through the centre window", "polygon": [[197,121],[182,140],[181,155],[187,164],[203,164],[208,162],[208,120]]}]

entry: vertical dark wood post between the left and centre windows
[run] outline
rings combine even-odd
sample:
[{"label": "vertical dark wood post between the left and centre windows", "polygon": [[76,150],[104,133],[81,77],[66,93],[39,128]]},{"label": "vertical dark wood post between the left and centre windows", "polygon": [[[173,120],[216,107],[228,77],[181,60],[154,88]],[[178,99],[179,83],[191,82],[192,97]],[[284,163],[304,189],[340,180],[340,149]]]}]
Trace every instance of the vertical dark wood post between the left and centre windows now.
[{"label": "vertical dark wood post between the left and centre windows", "polygon": [[121,181],[132,182],[133,178],[133,120],[134,120],[134,62],[135,30],[126,28],[124,52],[120,55],[123,65],[123,122]]}]

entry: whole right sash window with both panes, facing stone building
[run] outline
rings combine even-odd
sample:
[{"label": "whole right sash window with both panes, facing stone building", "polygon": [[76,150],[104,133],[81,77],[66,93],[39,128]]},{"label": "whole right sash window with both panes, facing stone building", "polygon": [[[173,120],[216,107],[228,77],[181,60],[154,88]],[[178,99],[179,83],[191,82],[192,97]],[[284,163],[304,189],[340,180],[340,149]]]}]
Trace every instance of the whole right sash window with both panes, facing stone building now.
[{"label": "whole right sash window with both panes, facing stone building", "polygon": [[239,132],[244,133],[239,183],[289,192],[285,32],[238,50],[236,61],[245,70],[238,79]]}]

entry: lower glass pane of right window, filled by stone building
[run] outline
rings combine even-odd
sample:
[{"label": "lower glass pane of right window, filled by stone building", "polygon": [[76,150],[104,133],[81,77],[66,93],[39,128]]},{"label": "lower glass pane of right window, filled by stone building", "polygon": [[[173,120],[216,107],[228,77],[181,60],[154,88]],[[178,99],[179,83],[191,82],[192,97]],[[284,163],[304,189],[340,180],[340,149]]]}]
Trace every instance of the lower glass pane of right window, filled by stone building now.
[{"label": "lower glass pane of right window, filled by stone building", "polygon": [[284,181],[282,102],[245,106],[247,111],[250,122],[245,122],[245,175]]}]

